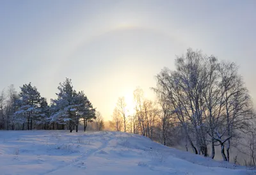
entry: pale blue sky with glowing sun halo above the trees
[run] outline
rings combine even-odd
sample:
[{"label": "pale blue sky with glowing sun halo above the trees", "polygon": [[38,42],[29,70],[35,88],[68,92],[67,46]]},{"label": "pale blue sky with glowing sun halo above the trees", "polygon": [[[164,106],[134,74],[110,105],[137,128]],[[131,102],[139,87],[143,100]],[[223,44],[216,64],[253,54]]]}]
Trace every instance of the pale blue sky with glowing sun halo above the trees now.
[{"label": "pale blue sky with glowing sun halo above the trees", "polygon": [[256,103],[256,1],[0,1],[0,89],[72,79],[106,119],[188,48],[239,65]]}]

